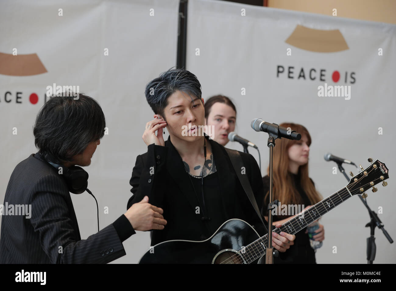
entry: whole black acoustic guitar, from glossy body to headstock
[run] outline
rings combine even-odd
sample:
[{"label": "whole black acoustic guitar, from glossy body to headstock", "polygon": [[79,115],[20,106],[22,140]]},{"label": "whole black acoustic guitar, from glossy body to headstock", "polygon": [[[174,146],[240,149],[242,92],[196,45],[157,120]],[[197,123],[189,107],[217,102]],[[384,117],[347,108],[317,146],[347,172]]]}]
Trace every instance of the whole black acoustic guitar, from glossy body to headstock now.
[{"label": "whole black acoustic guitar, from glossy body to headstock", "polygon": [[[385,164],[376,160],[358,175],[350,179],[348,185],[324,200],[318,202],[296,217],[284,223],[273,232],[296,234],[308,224],[337,207],[354,195],[362,195],[369,188],[377,191],[378,183],[387,185],[388,169]],[[240,219],[230,219],[207,240],[201,242],[188,240],[171,240],[158,243],[141,257],[139,264],[250,264],[257,263],[265,255],[267,236],[259,236],[253,227]]]}]

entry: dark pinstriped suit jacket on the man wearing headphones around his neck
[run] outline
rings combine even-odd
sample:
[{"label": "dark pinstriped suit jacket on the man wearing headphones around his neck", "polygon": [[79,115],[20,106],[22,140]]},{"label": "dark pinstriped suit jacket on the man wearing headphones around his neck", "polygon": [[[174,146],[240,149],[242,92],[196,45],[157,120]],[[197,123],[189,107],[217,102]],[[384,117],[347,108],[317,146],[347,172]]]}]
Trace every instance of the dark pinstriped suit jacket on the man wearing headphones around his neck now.
[{"label": "dark pinstriped suit jacket on the man wearing headphones around his neck", "polygon": [[40,154],[15,167],[3,205],[6,202],[31,204],[31,218],[2,216],[2,264],[107,263],[126,255],[112,224],[81,240],[67,184]]}]

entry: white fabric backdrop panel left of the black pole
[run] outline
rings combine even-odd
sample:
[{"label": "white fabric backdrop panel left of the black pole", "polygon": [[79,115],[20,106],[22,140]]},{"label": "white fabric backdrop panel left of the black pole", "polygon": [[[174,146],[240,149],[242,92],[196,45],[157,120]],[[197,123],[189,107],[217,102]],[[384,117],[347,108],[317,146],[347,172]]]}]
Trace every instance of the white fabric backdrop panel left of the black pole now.
[{"label": "white fabric backdrop panel left of the black pole", "polygon": [[[179,1],[19,0],[0,7],[0,52],[12,54],[17,48],[18,54],[37,53],[48,71],[0,75],[0,203],[15,165],[37,151],[32,126],[46,87],[80,86],[80,92],[99,102],[109,127],[86,168],[102,229],[126,211],[132,167],[136,156],[147,150],[141,135],[153,113],[144,97],[145,85],[176,65]],[[59,8],[63,16],[58,16]],[[105,48],[109,55],[104,55]],[[7,95],[10,103],[4,100],[7,91],[12,93]],[[16,103],[16,92],[22,92],[21,103]],[[33,92],[39,97],[35,105],[29,102]],[[86,192],[72,194],[72,200],[81,237],[88,238],[97,232],[95,201]],[[109,214],[104,214],[105,206]],[[124,242],[127,255],[115,262],[136,263],[149,245],[149,233],[138,232]]]}]

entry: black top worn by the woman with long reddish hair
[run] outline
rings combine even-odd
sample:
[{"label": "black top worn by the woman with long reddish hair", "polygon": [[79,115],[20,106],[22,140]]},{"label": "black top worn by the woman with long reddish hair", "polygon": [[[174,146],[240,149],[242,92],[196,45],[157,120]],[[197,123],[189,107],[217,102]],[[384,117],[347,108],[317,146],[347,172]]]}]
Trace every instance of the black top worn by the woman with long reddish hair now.
[{"label": "black top worn by the woman with long reddish hair", "polygon": [[[304,204],[304,207],[307,207],[308,205],[312,205],[312,203],[307,197],[307,194],[305,193],[305,191],[301,186],[300,174],[295,175],[289,172],[289,175],[291,175],[293,178],[292,181],[294,183],[297,192],[301,196],[301,202]],[[266,196],[270,187],[270,178],[268,175],[263,177],[263,184],[264,184],[264,196]],[[312,184],[314,184],[313,181]],[[274,197],[272,197],[272,200],[274,200]],[[269,195],[267,196],[267,198],[263,203],[263,209],[267,209],[268,203],[269,203]],[[283,204],[282,201],[280,203]],[[299,204],[298,202],[292,202],[292,203]],[[301,211],[303,209],[304,208],[302,208]],[[268,213],[263,213],[263,214],[265,216],[268,215]],[[274,215],[272,221],[279,221],[287,217],[288,216]],[[274,259],[275,264],[316,264],[315,251],[310,246],[308,234],[305,233],[306,229],[307,228],[303,228],[302,230],[300,230],[295,234],[296,238],[294,240],[294,245],[291,245],[286,252],[279,253],[280,254],[279,257]]]}]

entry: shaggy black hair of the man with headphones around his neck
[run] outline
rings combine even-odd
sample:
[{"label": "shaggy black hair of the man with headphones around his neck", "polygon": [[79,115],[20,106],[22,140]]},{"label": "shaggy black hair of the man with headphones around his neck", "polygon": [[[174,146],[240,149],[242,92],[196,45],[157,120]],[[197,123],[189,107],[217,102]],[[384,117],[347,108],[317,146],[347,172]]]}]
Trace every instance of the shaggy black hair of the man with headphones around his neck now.
[{"label": "shaggy black hair of the man with headphones around his neck", "polygon": [[70,162],[89,143],[101,139],[105,115],[97,101],[83,93],[51,97],[37,114],[33,127],[34,145],[40,154],[50,154],[58,162]]}]

